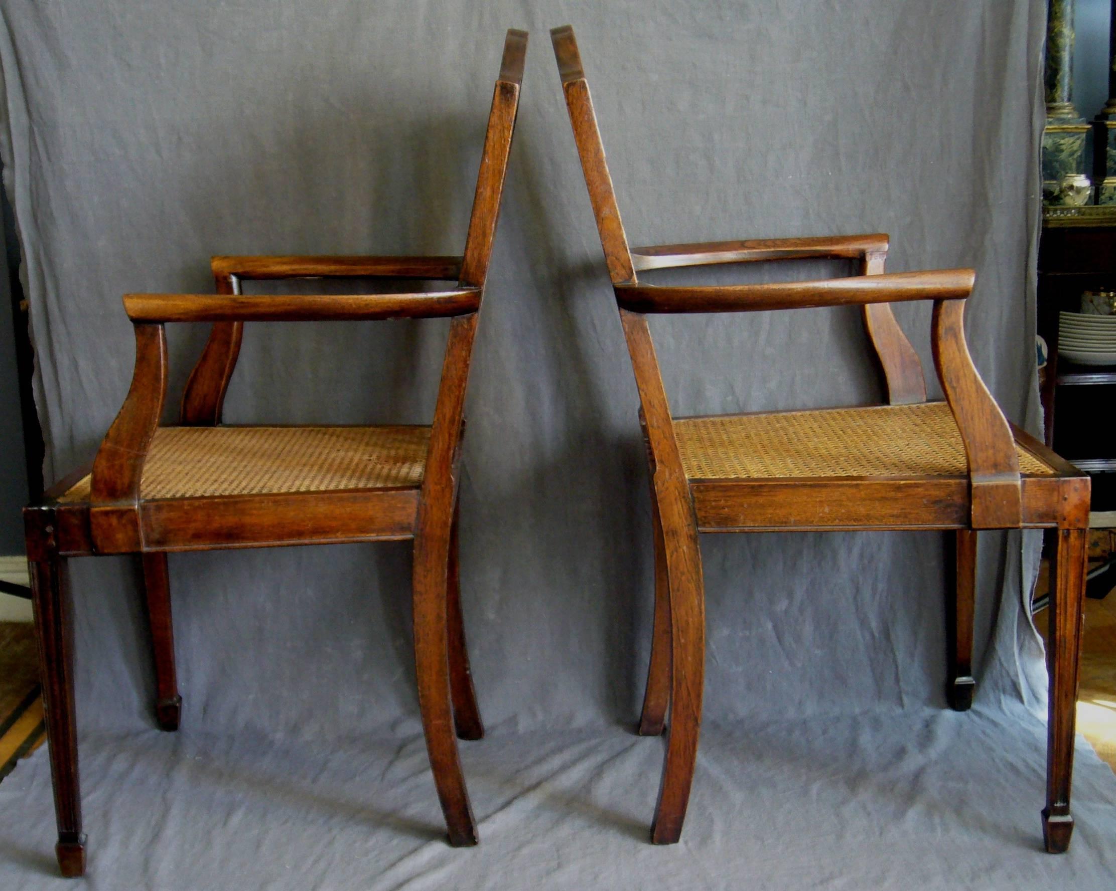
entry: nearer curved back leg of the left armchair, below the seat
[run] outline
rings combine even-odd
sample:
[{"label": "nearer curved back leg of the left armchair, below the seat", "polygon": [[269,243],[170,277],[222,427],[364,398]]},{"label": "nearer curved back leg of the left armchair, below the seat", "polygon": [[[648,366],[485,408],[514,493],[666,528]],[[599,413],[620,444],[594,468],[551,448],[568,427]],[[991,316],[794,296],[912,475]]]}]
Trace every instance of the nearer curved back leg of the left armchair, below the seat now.
[{"label": "nearer curved back leg of the left armchair, below the seat", "polygon": [[458,757],[450,698],[446,608],[450,525],[446,522],[444,530],[415,537],[415,675],[419,680],[419,706],[426,735],[426,752],[430,754],[434,785],[445,815],[450,844],[461,848],[477,844],[477,824],[465,790],[465,778],[461,773],[461,759]]}]

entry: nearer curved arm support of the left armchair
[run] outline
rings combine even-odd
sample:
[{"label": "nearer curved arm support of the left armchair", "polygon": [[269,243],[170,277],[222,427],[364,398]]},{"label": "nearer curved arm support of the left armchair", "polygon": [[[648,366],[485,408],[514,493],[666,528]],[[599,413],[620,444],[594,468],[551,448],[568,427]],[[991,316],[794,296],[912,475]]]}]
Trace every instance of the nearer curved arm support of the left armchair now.
[{"label": "nearer curved arm support of the left armchair", "polygon": [[135,513],[140,481],[166,398],[166,335],[162,325],[135,326],[136,365],[132,387],[93,462],[89,526],[105,552],[138,551]]}]

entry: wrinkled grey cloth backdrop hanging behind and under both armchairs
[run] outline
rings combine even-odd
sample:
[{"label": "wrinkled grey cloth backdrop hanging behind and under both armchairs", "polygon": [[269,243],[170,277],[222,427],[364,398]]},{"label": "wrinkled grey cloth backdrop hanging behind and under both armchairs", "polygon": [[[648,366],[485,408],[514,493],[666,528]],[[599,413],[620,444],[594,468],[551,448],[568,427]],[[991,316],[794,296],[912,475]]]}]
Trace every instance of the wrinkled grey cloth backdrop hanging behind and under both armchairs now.
[{"label": "wrinkled grey cloth backdrop hanging behind and under both armchairs", "polygon": [[[531,31],[462,483],[481,845],[441,841],[404,545],[172,556],[177,735],[150,717],[134,568],[81,560],[88,887],[1110,888],[1116,782],[1084,743],[1074,848],[1040,853],[1046,676],[1018,534],[981,539],[965,715],[944,708],[941,535],[706,537],[693,802],[680,845],[647,844],[663,743],[631,729],[652,614],[637,398],[547,35],[577,29],[634,243],[886,231],[893,270],[975,267],[977,365],[1033,428],[1043,7],[3,0],[48,478],[93,455],[127,389],[122,293],[206,291],[214,253],[460,252],[503,30]],[[730,275],[752,272],[685,278]],[[930,307],[897,314],[932,369]],[[881,396],[853,310],[654,331],[682,414]],[[444,333],[257,325],[227,418],[424,420]],[[204,337],[170,332],[172,393]],[[52,844],[40,752],[0,786],[0,887],[51,884]]]}]

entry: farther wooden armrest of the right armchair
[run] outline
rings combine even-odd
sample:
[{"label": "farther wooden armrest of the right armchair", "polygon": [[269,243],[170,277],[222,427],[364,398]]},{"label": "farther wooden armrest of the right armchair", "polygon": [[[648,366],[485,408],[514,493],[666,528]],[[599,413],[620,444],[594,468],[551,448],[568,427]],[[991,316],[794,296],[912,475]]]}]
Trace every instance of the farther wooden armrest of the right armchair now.
[{"label": "farther wooden armrest of the right armchair", "polygon": [[695,244],[660,244],[633,248],[636,272],[712,263],[752,263],[760,260],[808,258],[860,259],[869,253],[887,253],[887,235],[835,235],[808,239],[749,239]]}]

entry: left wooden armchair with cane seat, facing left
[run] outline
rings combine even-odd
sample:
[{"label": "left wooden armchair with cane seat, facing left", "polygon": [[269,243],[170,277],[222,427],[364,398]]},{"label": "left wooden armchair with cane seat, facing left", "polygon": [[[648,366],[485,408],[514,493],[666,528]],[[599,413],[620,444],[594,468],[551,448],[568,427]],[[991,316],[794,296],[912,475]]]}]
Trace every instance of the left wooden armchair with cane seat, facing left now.
[{"label": "left wooden armchair with cane seat, facing left", "polygon": [[[66,561],[142,555],[154,650],[155,714],[179,726],[182,698],[166,554],[219,548],[414,542],[414,645],[426,748],[450,843],[477,843],[456,735],[483,735],[465,652],[458,581],[458,459],[477,317],[484,292],[527,33],[509,30],[489,115],[462,256],[218,256],[217,294],[128,294],[136,365],[124,407],[89,468],[25,512],[50,766],[58,863],[85,870]],[[244,279],[456,280],[441,291],[241,296]],[[450,318],[431,426],[231,427],[221,407],[246,321]],[[181,426],[160,424],[167,322],[212,322],[182,400]]]}]

